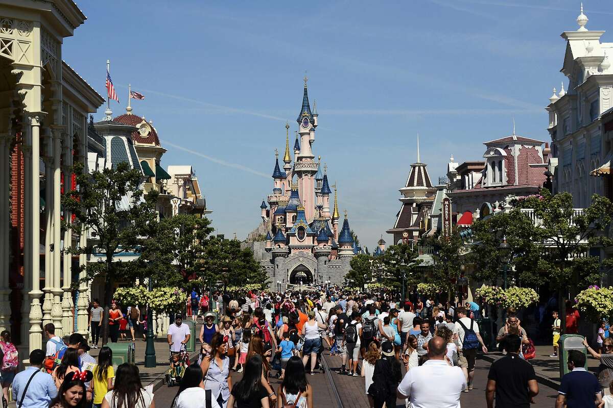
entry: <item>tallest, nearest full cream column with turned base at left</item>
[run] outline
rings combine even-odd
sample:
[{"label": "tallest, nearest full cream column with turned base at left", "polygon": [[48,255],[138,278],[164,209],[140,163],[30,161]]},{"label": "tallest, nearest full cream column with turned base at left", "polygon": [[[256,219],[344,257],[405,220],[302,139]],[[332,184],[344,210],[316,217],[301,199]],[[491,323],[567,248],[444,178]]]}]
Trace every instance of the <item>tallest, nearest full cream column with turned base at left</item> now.
[{"label": "tallest, nearest full cream column with turned base at left", "polygon": [[[29,292],[30,313],[29,313],[29,349],[42,349],[42,310],[40,308],[40,121],[43,113],[31,113],[30,119],[30,141],[31,150],[29,157],[31,171],[30,184],[30,256],[29,267],[31,270],[31,287]],[[28,180],[26,179],[26,182]],[[59,206],[59,204],[58,204]]]}]

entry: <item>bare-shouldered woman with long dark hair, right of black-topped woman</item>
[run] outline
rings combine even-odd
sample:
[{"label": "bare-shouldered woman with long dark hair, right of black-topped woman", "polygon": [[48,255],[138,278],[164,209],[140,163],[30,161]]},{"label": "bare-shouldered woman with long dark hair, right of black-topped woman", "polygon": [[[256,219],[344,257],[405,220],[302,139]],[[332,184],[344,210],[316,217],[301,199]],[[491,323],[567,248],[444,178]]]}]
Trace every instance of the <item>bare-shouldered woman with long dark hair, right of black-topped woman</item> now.
[{"label": "bare-shouldered woman with long dark hair, right of black-topped woman", "polygon": [[279,385],[280,398],[276,401],[277,408],[294,405],[295,408],[313,408],[313,388],[308,384],[305,366],[300,357],[289,359],[285,367],[285,377]]}]

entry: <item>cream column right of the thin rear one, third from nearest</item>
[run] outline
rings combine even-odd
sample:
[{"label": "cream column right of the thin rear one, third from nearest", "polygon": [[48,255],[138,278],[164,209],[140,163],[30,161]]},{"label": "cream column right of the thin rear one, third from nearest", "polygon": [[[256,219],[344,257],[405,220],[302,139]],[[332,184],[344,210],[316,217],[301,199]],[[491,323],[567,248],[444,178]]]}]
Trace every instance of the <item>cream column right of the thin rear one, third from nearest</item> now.
[{"label": "cream column right of the thin rear one, third from nearest", "polygon": [[[51,278],[51,321],[55,325],[55,334],[63,336],[62,324],[62,289],[61,289],[61,213],[60,213],[60,157],[61,132],[53,129],[53,276]],[[69,328],[68,328],[69,329]]]}]

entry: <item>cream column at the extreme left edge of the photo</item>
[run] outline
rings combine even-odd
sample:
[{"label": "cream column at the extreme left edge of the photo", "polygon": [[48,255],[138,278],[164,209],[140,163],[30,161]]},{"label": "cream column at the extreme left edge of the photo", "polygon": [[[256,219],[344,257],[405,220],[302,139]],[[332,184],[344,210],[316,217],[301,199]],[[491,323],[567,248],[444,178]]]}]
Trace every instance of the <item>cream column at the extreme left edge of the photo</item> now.
[{"label": "cream column at the extreme left edge of the photo", "polygon": [[10,135],[0,135],[0,330],[9,330],[9,159]]}]

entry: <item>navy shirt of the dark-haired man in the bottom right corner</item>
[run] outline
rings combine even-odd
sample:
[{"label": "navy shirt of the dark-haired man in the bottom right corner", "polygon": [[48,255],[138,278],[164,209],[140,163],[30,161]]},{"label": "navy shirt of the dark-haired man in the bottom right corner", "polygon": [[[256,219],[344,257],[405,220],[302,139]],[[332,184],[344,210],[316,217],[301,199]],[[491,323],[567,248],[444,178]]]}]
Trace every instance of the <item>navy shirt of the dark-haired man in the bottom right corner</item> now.
[{"label": "navy shirt of the dark-haired man in the bottom right corner", "polygon": [[564,374],[558,390],[558,393],[566,396],[567,408],[593,408],[596,394],[601,392],[598,379],[585,368],[575,368]]}]

